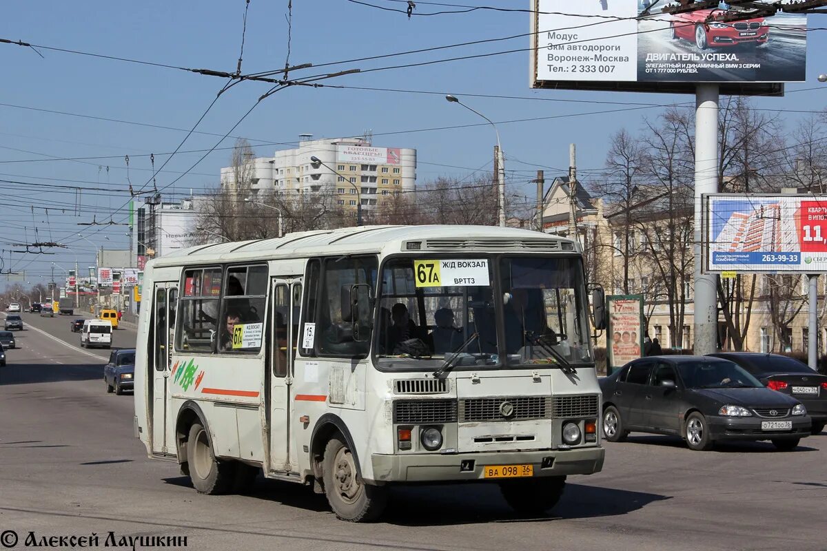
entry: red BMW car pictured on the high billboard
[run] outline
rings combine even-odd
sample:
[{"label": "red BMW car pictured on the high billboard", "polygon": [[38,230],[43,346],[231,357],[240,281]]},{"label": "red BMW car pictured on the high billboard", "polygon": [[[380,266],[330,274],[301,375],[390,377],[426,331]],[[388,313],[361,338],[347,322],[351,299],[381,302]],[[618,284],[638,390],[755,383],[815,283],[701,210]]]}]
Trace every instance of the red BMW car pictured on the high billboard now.
[{"label": "red BMW car pictured on the high billboard", "polygon": [[763,17],[753,17],[744,21],[708,21],[715,17],[711,10],[676,13],[669,23],[669,35],[672,40],[689,40],[695,42],[698,50],[709,47],[744,45],[757,47],[767,44],[770,39],[770,27]]}]

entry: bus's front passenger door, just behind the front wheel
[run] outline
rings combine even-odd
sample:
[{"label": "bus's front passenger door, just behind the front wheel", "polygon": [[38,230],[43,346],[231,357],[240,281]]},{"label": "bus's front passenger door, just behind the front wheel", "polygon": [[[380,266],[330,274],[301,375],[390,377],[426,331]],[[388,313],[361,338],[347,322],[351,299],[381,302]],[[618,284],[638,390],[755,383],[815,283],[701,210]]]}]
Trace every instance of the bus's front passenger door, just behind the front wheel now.
[{"label": "bus's front passenger door, just behind the front wheel", "polygon": [[290,456],[290,387],[299,338],[301,278],[273,279],[270,319],[270,470],[294,470]]}]

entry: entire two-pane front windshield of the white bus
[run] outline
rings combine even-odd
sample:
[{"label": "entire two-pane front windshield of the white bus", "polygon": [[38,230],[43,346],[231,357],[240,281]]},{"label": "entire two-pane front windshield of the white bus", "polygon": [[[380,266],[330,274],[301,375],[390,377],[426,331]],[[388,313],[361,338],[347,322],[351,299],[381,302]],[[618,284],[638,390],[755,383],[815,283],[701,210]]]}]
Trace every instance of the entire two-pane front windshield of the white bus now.
[{"label": "entire two-pane front windshield of the white bus", "polygon": [[380,368],[438,368],[447,360],[456,368],[592,362],[576,258],[390,259],[377,306]]}]

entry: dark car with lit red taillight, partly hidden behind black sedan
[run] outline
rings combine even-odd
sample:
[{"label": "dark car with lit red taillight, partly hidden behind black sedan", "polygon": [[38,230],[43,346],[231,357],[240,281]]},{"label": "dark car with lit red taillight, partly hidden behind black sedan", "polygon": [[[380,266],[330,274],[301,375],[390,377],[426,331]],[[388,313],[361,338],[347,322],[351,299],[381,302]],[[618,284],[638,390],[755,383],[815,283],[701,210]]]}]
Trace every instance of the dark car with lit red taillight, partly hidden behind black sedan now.
[{"label": "dark car with lit red taillight, partly hidden behind black sedan", "polygon": [[813,420],[812,433],[818,435],[827,422],[827,375],[822,375],[781,354],[719,352],[715,358],[729,359],[746,369],[762,385],[801,401]]}]

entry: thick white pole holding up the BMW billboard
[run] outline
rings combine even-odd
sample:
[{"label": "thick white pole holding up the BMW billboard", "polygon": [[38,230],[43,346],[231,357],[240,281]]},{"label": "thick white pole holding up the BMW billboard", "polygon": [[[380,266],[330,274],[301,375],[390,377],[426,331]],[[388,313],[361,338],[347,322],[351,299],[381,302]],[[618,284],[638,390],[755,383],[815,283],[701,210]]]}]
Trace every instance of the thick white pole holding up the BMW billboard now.
[{"label": "thick white pole holding up the BMW billboard", "polygon": [[695,112],[695,342],[696,355],[717,349],[717,275],[705,273],[706,245],[702,241],[701,197],[718,192],[718,102],[717,84],[700,83],[696,88]]}]

